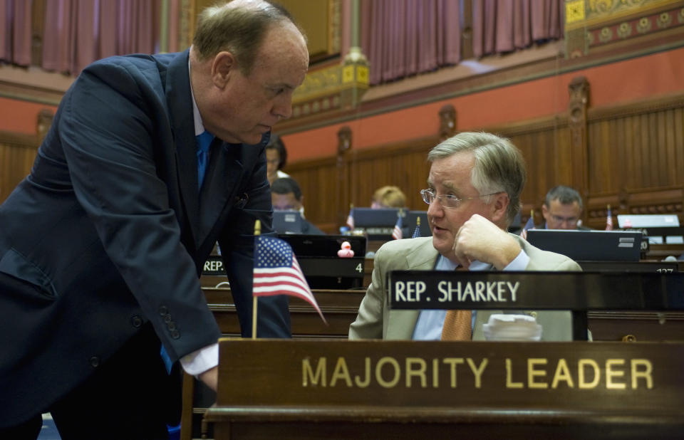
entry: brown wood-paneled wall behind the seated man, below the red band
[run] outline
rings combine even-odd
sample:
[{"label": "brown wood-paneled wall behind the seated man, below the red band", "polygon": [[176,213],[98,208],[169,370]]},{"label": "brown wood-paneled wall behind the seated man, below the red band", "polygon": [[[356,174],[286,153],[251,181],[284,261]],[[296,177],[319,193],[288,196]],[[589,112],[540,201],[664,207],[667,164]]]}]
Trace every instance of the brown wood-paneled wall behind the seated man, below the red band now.
[{"label": "brown wood-paneled wall behind the seated man, below the red band", "polygon": [[[541,223],[541,204],[549,188],[565,184],[584,197],[584,224],[606,226],[608,204],[617,214],[680,216],[684,223],[684,94],[591,108],[589,88],[561,115],[480,130],[509,137],[527,162],[522,216],[534,209]],[[572,88],[576,88],[572,90]],[[439,117],[439,115],[435,115]],[[302,184],[306,215],[333,233],[343,225],[349,204],[370,206],[375,189],[395,184],[406,193],[410,209],[425,209],[418,191],[425,187],[427,152],[440,140],[424,137],[353,150],[337,157],[289,164],[287,172]]]}]

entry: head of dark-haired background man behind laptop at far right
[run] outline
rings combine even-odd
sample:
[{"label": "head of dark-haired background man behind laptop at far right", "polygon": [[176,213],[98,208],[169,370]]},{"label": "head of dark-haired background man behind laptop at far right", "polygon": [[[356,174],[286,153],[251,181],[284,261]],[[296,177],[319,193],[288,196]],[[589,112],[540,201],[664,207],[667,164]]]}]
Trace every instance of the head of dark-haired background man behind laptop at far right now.
[{"label": "head of dark-haired background man behind laptop at far right", "polygon": [[581,229],[587,231],[590,228],[580,224],[582,209],[582,198],[579,192],[563,185],[553,187],[546,193],[546,199],[541,206],[544,225],[537,229]]}]

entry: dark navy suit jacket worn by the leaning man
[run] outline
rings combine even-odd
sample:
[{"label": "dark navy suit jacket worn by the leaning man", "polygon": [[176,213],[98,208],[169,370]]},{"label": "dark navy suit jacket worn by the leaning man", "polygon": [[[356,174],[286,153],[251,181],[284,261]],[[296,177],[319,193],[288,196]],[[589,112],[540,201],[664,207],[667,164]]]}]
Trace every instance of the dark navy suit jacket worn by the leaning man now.
[{"label": "dark navy suit jacket worn by the leaning man", "polygon": [[[185,51],[83,70],[0,206],[0,426],[63,396],[148,322],[172,360],[217,342],[198,279],[216,241],[251,333],[254,221],[271,231],[266,137],[214,140],[198,194],[187,66]],[[260,298],[259,336],[289,331],[286,298]]]}]

